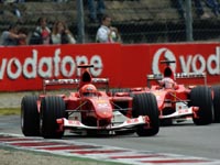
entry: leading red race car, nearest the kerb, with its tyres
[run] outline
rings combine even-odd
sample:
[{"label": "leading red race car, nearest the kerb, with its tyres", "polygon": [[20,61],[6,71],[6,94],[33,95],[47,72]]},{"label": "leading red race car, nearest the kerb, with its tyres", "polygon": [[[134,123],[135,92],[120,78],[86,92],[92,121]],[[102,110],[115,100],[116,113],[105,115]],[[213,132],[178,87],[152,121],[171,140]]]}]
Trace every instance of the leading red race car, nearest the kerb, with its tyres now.
[{"label": "leading red race car, nearest the kerb, with its tyres", "polygon": [[[42,95],[23,97],[21,129],[24,135],[58,139],[65,130],[81,135],[131,131],[139,136],[152,136],[158,133],[158,109],[153,94],[113,94],[107,78],[91,77],[89,67],[92,65],[78,67],[80,78],[46,79]],[[47,95],[47,87],[52,86],[76,88],[69,95]]]}]

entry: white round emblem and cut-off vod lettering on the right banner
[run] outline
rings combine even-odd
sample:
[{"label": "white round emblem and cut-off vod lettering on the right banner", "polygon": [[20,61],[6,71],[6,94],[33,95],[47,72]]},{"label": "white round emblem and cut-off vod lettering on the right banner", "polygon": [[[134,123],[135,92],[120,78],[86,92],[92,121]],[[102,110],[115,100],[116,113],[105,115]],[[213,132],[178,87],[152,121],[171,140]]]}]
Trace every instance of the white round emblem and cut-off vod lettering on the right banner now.
[{"label": "white round emblem and cut-off vod lettering on the right banner", "polygon": [[[158,48],[153,55],[152,70],[153,74],[162,73],[160,70],[161,61],[176,61],[180,73],[208,73],[209,75],[220,75],[220,47],[216,47],[215,53],[208,56],[200,53],[196,54],[174,54],[166,47]],[[176,64],[170,67],[176,72]]]}]

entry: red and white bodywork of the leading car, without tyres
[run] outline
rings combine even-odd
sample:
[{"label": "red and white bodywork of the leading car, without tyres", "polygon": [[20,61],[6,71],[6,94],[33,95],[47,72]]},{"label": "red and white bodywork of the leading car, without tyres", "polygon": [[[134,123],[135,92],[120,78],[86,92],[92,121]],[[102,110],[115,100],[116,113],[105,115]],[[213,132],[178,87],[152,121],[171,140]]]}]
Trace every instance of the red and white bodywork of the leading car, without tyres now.
[{"label": "red and white bodywork of the leading car, without tyres", "polygon": [[[108,89],[107,78],[92,78],[88,65],[81,66],[81,77],[79,79],[53,79],[44,80],[44,95],[37,101],[38,112],[41,113],[41,100],[46,95],[47,86],[77,86],[77,90],[67,95],[58,95],[65,101],[67,118],[56,119],[59,124],[58,131],[70,130],[120,130],[145,124],[150,128],[150,118],[140,116],[132,118],[132,100],[128,92],[119,92],[112,96]],[[87,85],[105,86],[105,90],[97,90],[96,95],[81,96],[81,88]],[[146,91],[141,91],[146,92]],[[119,107],[120,106],[120,107]],[[116,111],[122,111],[123,120],[117,123]],[[116,118],[116,119],[114,119]],[[116,121],[114,121],[116,120]]]}]

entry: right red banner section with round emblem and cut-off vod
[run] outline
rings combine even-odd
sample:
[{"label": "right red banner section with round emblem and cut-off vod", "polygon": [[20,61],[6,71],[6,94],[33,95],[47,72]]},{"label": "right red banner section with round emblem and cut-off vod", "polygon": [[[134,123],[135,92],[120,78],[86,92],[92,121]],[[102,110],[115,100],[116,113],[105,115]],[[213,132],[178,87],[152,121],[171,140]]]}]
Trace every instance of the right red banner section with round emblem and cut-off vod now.
[{"label": "right red banner section with round emblem and cut-off vod", "polygon": [[152,73],[162,72],[158,63],[166,58],[176,62],[172,64],[175,73],[206,73],[209,85],[220,82],[219,43],[156,44],[150,46],[150,54]]}]

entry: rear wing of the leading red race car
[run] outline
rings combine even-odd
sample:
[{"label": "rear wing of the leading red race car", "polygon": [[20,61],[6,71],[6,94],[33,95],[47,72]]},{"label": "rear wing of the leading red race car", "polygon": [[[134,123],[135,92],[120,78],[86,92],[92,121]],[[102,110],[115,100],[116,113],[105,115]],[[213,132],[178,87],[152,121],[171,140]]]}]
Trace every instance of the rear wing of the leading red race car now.
[{"label": "rear wing of the leading red race car", "polygon": [[[106,88],[106,90],[109,90],[109,78],[92,78],[91,82],[96,86],[96,87],[102,87]],[[46,88],[48,86],[55,86],[57,89],[57,87],[70,87],[73,85],[72,88],[78,88],[78,86],[80,85],[80,79],[79,78],[72,78],[72,79],[43,79],[43,92],[46,94]]]}]

